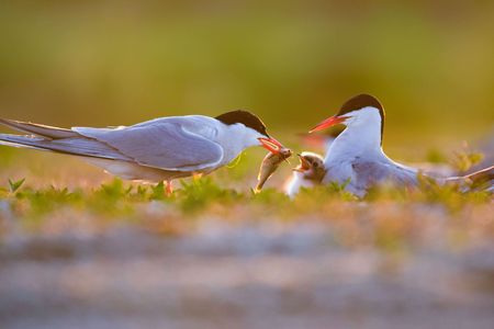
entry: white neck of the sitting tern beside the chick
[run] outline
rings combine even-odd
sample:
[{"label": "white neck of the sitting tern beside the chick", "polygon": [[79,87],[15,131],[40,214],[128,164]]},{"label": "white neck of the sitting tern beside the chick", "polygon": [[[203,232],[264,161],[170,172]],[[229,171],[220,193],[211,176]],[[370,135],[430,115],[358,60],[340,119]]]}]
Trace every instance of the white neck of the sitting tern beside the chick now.
[{"label": "white neck of the sitting tern beside the chick", "polygon": [[374,157],[382,151],[381,118],[369,116],[352,121],[329,146],[325,162],[332,159]]}]

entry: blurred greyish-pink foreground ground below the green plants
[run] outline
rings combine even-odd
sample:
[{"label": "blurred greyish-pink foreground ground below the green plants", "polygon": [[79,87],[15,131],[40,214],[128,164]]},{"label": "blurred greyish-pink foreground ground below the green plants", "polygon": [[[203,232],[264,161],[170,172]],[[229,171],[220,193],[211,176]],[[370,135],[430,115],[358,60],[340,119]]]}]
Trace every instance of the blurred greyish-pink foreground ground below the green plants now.
[{"label": "blurred greyish-pink foreground ground below the green plants", "polygon": [[318,220],[20,235],[0,249],[1,328],[493,328],[494,243],[451,248],[436,219],[395,251]]}]

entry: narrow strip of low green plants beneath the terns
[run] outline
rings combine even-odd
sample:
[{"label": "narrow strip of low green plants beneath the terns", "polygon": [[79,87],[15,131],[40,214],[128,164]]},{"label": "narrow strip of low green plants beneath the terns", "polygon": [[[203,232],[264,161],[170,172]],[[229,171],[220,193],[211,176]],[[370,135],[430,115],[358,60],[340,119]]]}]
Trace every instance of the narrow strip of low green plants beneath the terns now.
[{"label": "narrow strip of low green plants beneath the terns", "polygon": [[[43,231],[45,222],[49,223],[60,214],[68,217],[89,216],[103,224],[120,222],[144,227],[149,225],[149,217],[157,217],[158,222],[167,225],[175,223],[181,227],[180,230],[170,231],[167,226],[167,234],[187,234],[193,231],[194,224],[207,217],[226,222],[327,220],[337,224],[361,220],[357,218],[364,208],[369,212],[369,220],[375,226],[373,243],[384,249],[393,249],[396,243],[402,243],[402,239],[406,240],[409,232],[403,230],[402,226],[407,224],[395,227],[395,222],[414,222],[415,215],[411,209],[440,209],[447,220],[452,223],[468,220],[465,218],[470,215],[465,217],[465,212],[482,209],[483,216],[492,216],[492,195],[485,192],[462,192],[457,185],[439,185],[426,179],[418,189],[383,186],[372,190],[363,200],[346,192],[344,185],[338,184],[302,190],[294,200],[272,188],[258,194],[251,190],[223,188],[213,177],[183,180],[179,185],[173,195],[167,196],[162,184],[139,185],[113,179],[92,189],[69,190],[50,185],[35,189],[27,179],[25,182],[11,181],[1,188],[0,201],[8,203],[15,220],[23,223],[23,227],[33,232]],[[161,211],[157,215],[149,215],[150,205]],[[395,213],[390,215],[392,208]],[[162,227],[154,230],[160,232]],[[3,235],[8,234],[3,231]]]}]

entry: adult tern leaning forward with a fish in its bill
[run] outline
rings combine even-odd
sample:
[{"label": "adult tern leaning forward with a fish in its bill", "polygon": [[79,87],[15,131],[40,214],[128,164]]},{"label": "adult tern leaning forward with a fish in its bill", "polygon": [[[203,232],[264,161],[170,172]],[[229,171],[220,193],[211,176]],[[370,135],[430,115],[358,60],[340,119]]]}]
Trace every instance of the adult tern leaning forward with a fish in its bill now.
[{"label": "adult tern leaning forward with a fish in its bill", "polygon": [[0,134],[0,145],[77,156],[126,180],[165,181],[168,193],[173,179],[210,173],[251,146],[273,155],[282,149],[247,111],[168,116],[117,128],[65,129],[11,120],[0,124],[30,134]]}]

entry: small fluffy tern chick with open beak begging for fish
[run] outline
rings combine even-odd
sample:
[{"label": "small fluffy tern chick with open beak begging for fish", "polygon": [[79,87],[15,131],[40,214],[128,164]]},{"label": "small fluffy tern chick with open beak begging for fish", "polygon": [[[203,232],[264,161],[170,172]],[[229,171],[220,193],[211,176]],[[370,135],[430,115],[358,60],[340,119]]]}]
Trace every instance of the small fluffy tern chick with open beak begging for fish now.
[{"label": "small fluffy tern chick with open beak begging for fish", "polygon": [[326,174],[324,159],[314,152],[302,152],[299,156],[300,164],[293,169],[293,173],[285,184],[285,193],[295,197],[301,188],[314,188],[323,181]]}]

